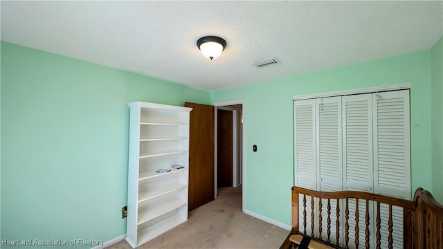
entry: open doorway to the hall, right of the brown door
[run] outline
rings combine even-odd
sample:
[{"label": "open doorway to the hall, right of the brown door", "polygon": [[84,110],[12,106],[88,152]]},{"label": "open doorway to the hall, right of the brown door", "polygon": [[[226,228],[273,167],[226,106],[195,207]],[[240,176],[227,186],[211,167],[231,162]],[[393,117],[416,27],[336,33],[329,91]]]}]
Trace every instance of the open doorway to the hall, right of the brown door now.
[{"label": "open doorway to the hall, right of the brown door", "polygon": [[242,190],[244,196],[243,103],[215,104],[215,126],[215,198],[225,187]]}]

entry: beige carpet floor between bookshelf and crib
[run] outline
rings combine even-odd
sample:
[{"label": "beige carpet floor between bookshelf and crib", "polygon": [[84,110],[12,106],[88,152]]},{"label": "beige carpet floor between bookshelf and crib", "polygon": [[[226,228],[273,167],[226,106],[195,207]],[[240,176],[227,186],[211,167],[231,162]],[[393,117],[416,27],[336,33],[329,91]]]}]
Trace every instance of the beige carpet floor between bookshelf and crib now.
[{"label": "beige carpet floor between bookshelf and crib", "polygon": [[[242,212],[242,189],[219,189],[218,197],[189,212],[186,223],[139,248],[279,248],[288,230]],[[109,249],[131,248],[123,240]]]}]

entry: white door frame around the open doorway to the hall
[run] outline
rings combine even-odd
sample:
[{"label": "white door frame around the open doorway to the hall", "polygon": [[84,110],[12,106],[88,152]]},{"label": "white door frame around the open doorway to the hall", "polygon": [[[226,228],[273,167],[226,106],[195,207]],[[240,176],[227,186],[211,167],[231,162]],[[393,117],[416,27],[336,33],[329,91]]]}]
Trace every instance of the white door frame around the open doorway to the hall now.
[{"label": "white door frame around the open doorway to the hall", "polygon": [[[245,155],[245,153],[244,153],[244,148],[246,148],[245,147],[245,145],[246,145],[246,136],[244,136],[244,134],[246,133],[245,131],[246,131],[246,127],[245,127],[245,123],[246,123],[246,119],[244,118],[244,113],[245,113],[245,111],[244,111],[244,109],[245,109],[245,103],[244,103],[245,101],[244,100],[231,100],[231,101],[225,101],[225,102],[215,102],[215,103],[213,103],[213,106],[214,106],[214,110],[215,110],[215,113],[217,113],[217,109],[225,109],[225,108],[227,108],[227,109],[230,109],[230,107],[225,107],[225,106],[228,106],[228,105],[234,105],[234,104],[242,104],[242,120],[243,120],[243,122],[242,122],[242,129],[243,129],[243,132],[242,132],[242,185],[243,185],[243,187],[242,187],[242,211],[244,212],[244,196],[246,196],[246,181],[245,181],[245,179],[246,179],[246,177],[245,177],[245,170],[244,170],[244,165],[246,165],[246,155]],[[232,111],[232,110],[228,110],[228,111]],[[236,115],[237,115],[237,110],[235,110],[235,113],[236,113]],[[234,113],[233,113],[234,114]],[[214,196],[215,196],[215,198],[217,198],[217,115],[214,115],[214,118],[215,118],[215,148],[214,148],[214,167],[215,167],[215,174],[214,174],[214,179],[215,179],[215,188],[214,188]],[[235,119],[234,119],[235,118]],[[235,120],[235,121],[234,121]],[[237,117],[234,117],[233,116],[233,128],[235,127],[235,130],[237,131]],[[235,123],[235,125],[234,125],[234,123]],[[234,136],[234,135],[233,135]],[[237,147],[237,135],[235,135],[235,140],[233,140],[233,143],[235,143],[235,147]],[[237,156],[237,149],[235,149],[235,155]],[[233,162],[234,163],[234,162]],[[237,165],[237,159],[235,160],[235,165]],[[237,165],[237,167],[238,167],[238,165]],[[233,172],[233,174],[237,174],[237,172],[235,171],[235,173]],[[238,176],[236,176],[236,178],[237,178],[237,180],[238,180]],[[233,177],[233,181],[234,181],[234,177]],[[238,181],[237,181],[238,182]]]}]

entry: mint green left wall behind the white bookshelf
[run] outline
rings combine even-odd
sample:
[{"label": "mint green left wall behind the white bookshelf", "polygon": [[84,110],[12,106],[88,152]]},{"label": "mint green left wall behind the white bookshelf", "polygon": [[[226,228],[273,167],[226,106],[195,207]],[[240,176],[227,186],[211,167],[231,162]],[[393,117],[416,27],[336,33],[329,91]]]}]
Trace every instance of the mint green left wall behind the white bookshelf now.
[{"label": "mint green left wall behind the white bookshelf", "polygon": [[210,93],[1,42],[1,239],[125,234],[136,100],[209,104]]}]

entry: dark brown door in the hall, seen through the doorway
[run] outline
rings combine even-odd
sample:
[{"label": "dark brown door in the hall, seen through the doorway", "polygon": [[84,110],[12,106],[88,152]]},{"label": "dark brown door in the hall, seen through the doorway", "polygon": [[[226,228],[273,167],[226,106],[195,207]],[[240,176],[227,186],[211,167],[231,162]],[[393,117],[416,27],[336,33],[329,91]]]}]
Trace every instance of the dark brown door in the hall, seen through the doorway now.
[{"label": "dark brown door in the hall, seen through the doorway", "polygon": [[233,186],[233,112],[217,110],[217,187]]}]

